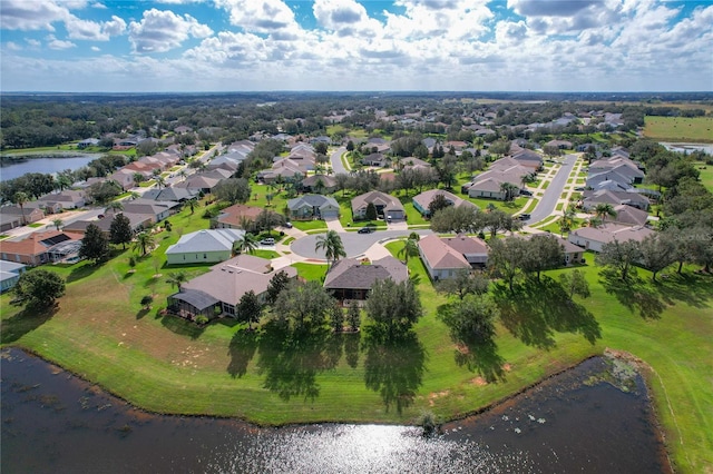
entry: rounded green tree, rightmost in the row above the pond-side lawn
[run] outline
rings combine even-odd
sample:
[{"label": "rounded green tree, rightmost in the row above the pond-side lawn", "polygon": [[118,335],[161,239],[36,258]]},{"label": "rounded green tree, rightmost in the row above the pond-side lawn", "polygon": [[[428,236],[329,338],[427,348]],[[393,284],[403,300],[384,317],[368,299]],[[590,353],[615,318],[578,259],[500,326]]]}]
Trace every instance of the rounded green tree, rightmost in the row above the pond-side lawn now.
[{"label": "rounded green tree, rightmost in the row above the pond-side lawn", "polygon": [[439,317],[450,329],[456,342],[466,344],[490,340],[495,336],[495,322],[499,317],[498,306],[489,297],[466,295]]}]

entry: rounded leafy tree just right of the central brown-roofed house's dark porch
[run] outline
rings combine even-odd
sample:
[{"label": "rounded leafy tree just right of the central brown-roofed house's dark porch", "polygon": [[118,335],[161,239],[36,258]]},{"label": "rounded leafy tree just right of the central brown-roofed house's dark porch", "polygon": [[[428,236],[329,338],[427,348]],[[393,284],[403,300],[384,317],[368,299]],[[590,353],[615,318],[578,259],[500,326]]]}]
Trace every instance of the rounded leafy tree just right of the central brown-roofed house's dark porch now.
[{"label": "rounded leafy tree just right of the central brown-roofed house's dark porch", "polygon": [[410,280],[374,282],[365,305],[367,315],[389,339],[406,334],[423,314],[419,294]]}]

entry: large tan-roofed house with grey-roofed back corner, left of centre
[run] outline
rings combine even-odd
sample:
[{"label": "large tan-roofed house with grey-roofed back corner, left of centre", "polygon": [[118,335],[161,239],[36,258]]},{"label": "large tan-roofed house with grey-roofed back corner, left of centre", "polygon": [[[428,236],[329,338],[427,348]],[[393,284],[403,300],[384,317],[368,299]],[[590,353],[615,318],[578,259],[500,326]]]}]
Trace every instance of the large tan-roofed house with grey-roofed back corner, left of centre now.
[{"label": "large tan-roofed house with grey-roofed back corner, left of centre", "polygon": [[243,295],[252,290],[264,300],[270,280],[277,271],[285,271],[290,278],[297,277],[294,267],[274,270],[265,258],[238,255],[180,285],[180,289],[168,297],[168,309],[187,319],[196,316],[212,319],[218,315],[236,317],[236,306]]}]

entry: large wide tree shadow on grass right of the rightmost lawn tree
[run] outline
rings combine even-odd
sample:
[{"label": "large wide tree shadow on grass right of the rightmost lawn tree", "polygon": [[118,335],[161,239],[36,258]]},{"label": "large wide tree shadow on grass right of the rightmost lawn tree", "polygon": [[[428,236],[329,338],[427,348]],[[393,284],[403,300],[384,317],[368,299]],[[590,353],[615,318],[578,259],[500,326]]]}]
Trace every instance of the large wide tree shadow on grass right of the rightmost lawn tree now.
[{"label": "large wide tree shadow on grass right of the rightmost lawn tree", "polygon": [[507,286],[496,285],[494,298],[505,327],[525,344],[549,349],[555,346],[555,332],[579,333],[590,344],[602,337],[594,315],[573,302],[554,279],[527,278],[515,286],[515,292],[512,295]]}]

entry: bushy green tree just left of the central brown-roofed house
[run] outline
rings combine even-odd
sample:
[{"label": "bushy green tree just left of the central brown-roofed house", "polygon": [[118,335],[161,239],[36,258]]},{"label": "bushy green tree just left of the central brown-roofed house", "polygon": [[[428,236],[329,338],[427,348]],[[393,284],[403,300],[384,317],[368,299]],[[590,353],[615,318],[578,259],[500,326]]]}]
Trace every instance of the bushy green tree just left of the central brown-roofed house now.
[{"label": "bushy green tree just left of the central brown-roofed house", "polygon": [[280,292],[272,314],[280,320],[292,320],[297,329],[322,326],[332,308],[333,298],[319,282],[292,280]]}]

